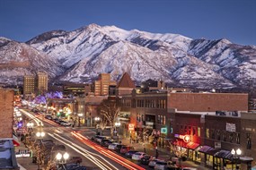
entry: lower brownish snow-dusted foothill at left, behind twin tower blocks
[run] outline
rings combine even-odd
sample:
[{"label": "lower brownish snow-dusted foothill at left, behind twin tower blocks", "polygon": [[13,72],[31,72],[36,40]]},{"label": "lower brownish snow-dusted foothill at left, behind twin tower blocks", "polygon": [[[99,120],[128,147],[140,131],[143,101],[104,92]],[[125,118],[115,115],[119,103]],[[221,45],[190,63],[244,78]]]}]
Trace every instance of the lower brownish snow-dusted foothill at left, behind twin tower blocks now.
[{"label": "lower brownish snow-dusted foothill at left, behind twin tower blocks", "polygon": [[51,60],[48,55],[41,54],[27,44],[7,40],[2,45],[0,46],[0,83],[22,84],[25,74],[35,74],[38,71],[48,72],[49,78],[64,72],[61,65]]}]

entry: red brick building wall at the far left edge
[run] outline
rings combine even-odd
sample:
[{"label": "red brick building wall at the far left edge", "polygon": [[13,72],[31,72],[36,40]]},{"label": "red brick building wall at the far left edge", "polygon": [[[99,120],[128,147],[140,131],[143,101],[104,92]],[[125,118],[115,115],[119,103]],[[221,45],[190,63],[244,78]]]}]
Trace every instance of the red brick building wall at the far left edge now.
[{"label": "red brick building wall at the far left edge", "polygon": [[13,138],[14,91],[0,89],[0,139]]}]

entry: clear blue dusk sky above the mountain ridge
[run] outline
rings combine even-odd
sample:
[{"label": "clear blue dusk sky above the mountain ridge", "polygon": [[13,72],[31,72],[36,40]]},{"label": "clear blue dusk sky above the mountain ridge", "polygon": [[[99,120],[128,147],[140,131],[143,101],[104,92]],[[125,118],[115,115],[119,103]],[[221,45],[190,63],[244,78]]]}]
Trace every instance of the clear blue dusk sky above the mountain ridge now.
[{"label": "clear blue dusk sky above the mountain ridge", "polygon": [[256,45],[256,0],[0,0],[0,37],[24,42],[91,23]]}]

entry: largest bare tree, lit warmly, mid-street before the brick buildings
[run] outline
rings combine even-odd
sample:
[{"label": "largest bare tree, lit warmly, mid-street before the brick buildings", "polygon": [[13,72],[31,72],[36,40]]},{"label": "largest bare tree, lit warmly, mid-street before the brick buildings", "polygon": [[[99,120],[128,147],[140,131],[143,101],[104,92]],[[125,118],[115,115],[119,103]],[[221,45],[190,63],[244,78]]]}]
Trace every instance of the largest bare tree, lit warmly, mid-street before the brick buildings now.
[{"label": "largest bare tree, lit warmly, mid-street before the brick buildings", "polygon": [[100,115],[102,120],[106,121],[106,125],[107,123],[110,124],[111,137],[113,137],[114,124],[120,115],[120,106],[117,105],[116,100],[112,98],[104,99],[100,106]]}]

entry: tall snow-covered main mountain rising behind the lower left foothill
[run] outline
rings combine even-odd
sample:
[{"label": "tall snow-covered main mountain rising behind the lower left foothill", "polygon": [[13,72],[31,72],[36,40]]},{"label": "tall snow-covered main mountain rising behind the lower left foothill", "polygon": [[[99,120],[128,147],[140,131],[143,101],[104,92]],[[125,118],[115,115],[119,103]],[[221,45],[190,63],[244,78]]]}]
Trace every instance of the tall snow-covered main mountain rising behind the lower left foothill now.
[{"label": "tall snow-covered main mountain rising behind the lower left foothill", "polygon": [[[49,31],[27,45],[0,38],[0,63],[2,58],[7,60],[10,43],[16,43],[13,48],[24,46],[40,54],[27,55],[38,58],[28,68],[46,70],[57,81],[90,81],[101,72],[110,72],[112,79],[119,80],[128,72],[134,81],[162,79],[186,87],[232,88],[256,78],[256,47],[235,45],[227,39],[191,39],[91,24],[73,31]],[[22,58],[12,56],[15,61]],[[39,64],[40,60],[53,65]]]}]

